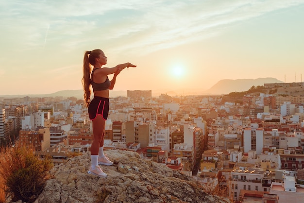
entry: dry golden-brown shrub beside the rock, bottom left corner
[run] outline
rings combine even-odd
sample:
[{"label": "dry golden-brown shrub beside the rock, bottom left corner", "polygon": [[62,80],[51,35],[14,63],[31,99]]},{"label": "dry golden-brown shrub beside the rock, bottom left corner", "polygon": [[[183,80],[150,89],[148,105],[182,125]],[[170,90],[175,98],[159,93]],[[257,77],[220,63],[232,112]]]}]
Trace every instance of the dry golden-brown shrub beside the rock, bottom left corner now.
[{"label": "dry golden-brown shrub beside the rock, bottom left corner", "polygon": [[34,202],[42,192],[53,167],[51,159],[40,160],[33,148],[15,146],[3,148],[0,152],[0,175],[6,192],[13,201]]}]

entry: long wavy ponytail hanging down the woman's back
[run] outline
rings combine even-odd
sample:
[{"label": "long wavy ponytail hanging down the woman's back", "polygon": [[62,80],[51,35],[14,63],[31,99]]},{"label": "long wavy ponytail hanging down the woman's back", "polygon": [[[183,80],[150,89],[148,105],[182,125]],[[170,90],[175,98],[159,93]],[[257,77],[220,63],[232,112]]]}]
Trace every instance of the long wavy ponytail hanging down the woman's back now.
[{"label": "long wavy ponytail hanging down the woman's back", "polygon": [[84,77],[82,79],[82,84],[84,86],[84,102],[86,103],[86,106],[89,105],[90,101],[91,101],[91,89],[90,89],[90,85],[91,85],[91,66],[90,66],[90,62],[89,62],[89,54],[91,53],[91,51],[85,51],[84,53]]}]

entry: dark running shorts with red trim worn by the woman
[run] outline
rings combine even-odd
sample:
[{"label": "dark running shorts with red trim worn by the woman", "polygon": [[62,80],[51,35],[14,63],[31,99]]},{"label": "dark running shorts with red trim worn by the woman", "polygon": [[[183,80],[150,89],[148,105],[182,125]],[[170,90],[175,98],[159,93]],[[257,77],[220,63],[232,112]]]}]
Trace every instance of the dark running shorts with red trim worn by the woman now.
[{"label": "dark running shorts with red trim worn by the woman", "polygon": [[109,98],[94,96],[88,107],[90,120],[94,120],[97,115],[101,115],[106,120],[109,114],[109,104]]}]

